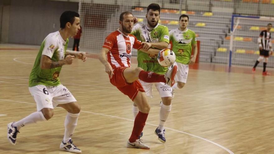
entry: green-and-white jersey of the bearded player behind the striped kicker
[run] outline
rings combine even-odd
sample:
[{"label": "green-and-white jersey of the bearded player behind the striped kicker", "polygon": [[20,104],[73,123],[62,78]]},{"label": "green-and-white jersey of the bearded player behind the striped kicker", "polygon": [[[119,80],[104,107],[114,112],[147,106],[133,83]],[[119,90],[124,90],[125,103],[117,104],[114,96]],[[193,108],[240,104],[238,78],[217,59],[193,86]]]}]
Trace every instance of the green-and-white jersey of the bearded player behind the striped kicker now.
[{"label": "green-and-white jersey of the bearded player behind the striped kicker", "polygon": [[[168,27],[157,24],[154,28],[148,28],[144,24],[136,24],[131,34],[142,42],[167,42],[169,43]],[[149,30],[150,29],[150,30]],[[143,68],[145,71],[151,71],[158,74],[165,74],[167,68],[161,66],[157,60],[157,54],[147,54],[138,51],[137,54],[138,67]]]}]

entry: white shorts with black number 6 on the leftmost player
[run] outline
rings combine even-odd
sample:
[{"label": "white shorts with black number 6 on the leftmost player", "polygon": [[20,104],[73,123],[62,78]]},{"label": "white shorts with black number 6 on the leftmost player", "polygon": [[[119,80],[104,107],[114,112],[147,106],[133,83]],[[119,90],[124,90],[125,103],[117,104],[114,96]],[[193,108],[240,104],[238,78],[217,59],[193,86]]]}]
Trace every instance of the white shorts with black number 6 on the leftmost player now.
[{"label": "white shorts with black number 6 on the leftmost player", "polygon": [[37,85],[29,87],[29,91],[36,102],[37,111],[43,108],[53,109],[59,104],[76,102],[73,95],[62,84],[59,86]]}]

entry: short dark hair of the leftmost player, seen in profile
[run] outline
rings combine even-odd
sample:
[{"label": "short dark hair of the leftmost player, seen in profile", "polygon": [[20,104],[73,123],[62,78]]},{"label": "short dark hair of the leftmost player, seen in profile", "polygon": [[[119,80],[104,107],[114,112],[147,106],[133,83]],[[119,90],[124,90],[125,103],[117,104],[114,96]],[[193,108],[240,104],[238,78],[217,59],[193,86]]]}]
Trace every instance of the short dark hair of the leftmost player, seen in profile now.
[{"label": "short dark hair of the leftmost player, seen in profile", "polygon": [[68,22],[73,24],[73,22],[75,21],[75,17],[79,17],[79,14],[77,12],[74,12],[74,11],[63,12],[62,15],[60,16],[60,28],[62,29],[65,28]]}]

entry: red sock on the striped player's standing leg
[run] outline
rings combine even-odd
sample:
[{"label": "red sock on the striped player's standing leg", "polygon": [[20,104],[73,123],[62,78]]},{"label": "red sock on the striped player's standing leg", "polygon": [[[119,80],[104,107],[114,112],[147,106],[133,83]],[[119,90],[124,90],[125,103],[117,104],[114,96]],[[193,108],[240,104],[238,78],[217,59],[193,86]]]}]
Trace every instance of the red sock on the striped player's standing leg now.
[{"label": "red sock on the striped player's standing leg", "polygon": [[149,115],[148,113],[143,113],[143,112],[140,112],[140,111],[136,115],[136,118],[134,120],[133,130],[132,130],[132,133],[131,133],[131,136],[130,136],[130,139],[129,139],[129,141],[131,143],[135,142],[138,139],[141,132],[143,131],[145,122],[148,118],[148,115]]}]

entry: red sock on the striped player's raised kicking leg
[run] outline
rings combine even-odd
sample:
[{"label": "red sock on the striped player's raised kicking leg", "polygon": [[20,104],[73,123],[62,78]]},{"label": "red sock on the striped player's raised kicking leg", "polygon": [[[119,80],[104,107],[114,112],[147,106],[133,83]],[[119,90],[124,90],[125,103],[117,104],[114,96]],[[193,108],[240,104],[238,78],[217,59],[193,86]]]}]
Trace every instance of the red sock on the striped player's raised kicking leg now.
[{"label": "red sock on the striped player's raised kicking leg", "polygon": [[139,79],[144,81],[144,82],[149,82],[149,83],[153,83],[153,82],[164,82],[166,83],[166,79],[164,77],[164,75],[160,75],[154,72],[146,72],[144,70],[142,70],[139,73]]}]

